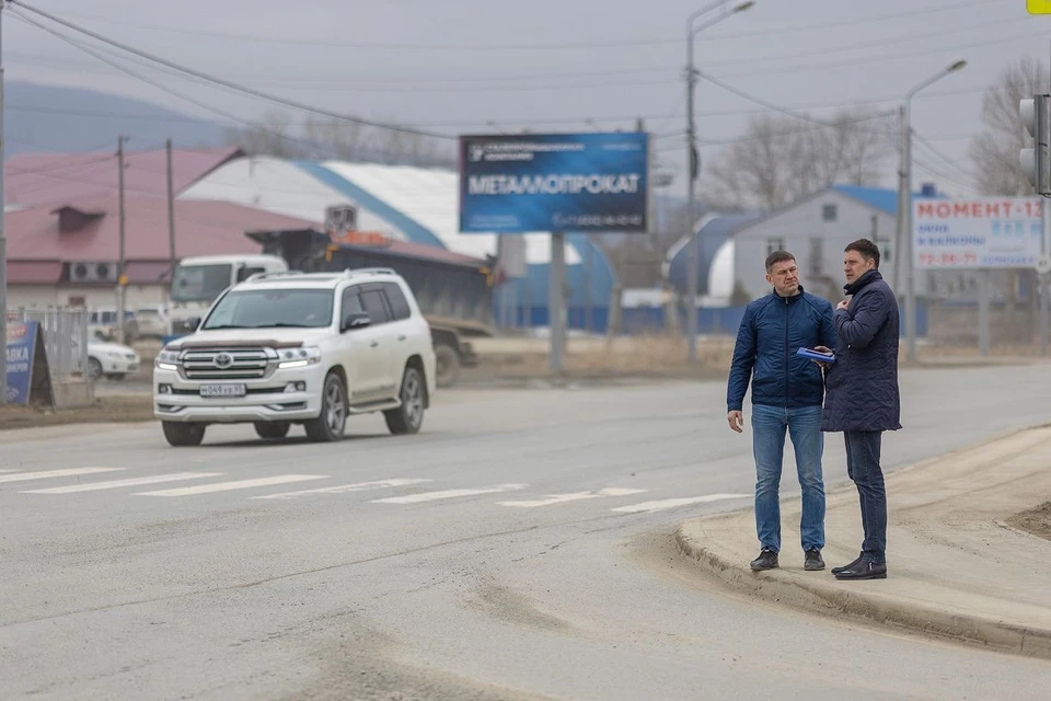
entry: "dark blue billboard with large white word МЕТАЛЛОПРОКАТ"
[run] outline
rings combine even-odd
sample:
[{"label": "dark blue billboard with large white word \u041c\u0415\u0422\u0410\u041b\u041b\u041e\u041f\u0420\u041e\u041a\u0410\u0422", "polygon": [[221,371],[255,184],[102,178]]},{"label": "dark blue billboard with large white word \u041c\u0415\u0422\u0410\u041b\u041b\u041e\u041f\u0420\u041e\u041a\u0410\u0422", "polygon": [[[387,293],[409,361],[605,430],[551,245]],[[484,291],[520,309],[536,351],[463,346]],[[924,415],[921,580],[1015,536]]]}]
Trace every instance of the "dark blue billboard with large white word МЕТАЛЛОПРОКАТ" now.
[{"label": "dark blue billboard with large white word \u041c\u0415\u0422\u0410\u041b\u041b\u041e\u041f\u0420\u041e\u041a\u0410\u0422", "polygon": [[460,137],[460,231],[646,232],[649,135]]}]

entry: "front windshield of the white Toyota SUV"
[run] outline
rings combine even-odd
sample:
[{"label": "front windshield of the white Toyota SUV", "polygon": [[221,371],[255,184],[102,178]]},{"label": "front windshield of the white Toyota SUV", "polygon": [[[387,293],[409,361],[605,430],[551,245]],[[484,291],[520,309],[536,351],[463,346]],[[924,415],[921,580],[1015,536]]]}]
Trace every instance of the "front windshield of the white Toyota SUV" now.
[{"label": "front windshield of the white Toyota SUV", "polygon": [[201,325],[209,329],[323,329],[332,323],[331,289],[246,289],[223,297]]}]

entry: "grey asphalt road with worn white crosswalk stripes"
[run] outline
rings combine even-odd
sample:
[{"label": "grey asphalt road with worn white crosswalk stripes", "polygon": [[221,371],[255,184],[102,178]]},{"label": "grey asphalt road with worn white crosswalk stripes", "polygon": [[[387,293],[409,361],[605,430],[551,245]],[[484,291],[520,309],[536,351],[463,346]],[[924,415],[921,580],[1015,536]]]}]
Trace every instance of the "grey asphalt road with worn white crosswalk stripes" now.
[{"label": "grey asphalt road with worn white crosswalk stripes", "polygon": [[[1047,378],[905,372],[888,464],[1051,421]],[[325,446],[251,427],[177,450],[158,426],[0,434],[0,696],[1047,698],[1048,663],[700,579],[675,525],[748,506],[753,484],[724,393],[447,392],[418,436],[365,417]],[[829,482],[842,453],[830,436]],[[789,450],[786,493],[793,472]]]}]

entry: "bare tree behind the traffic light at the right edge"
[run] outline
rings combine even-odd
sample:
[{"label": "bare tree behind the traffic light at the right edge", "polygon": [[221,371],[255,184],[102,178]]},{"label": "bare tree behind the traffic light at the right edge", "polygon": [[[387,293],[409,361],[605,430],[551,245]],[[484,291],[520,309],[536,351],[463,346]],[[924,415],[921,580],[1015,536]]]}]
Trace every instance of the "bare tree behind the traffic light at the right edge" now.
[{"label": "bare tree behind the traffic light at the right edge", "polygon": [[982,99],[985,130],[971,141],[975,180],[985,195],[1031,195],[1032,185],[1018,163],[1018,151],[1032,146],[1018,115],[1018,101],[1047,92],[1044,65],[1026,56],[1005,70]]}]

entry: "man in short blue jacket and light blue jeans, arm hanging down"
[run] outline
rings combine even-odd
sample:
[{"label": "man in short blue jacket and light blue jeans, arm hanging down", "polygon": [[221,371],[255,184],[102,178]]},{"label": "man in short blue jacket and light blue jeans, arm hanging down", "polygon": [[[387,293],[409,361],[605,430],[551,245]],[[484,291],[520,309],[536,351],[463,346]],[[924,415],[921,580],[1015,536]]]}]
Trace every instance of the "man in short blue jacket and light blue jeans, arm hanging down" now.
[{"label": "man in short blue jacket and light blue jeans, arm hanging down", "polygon": [[755,529],[761,552],[752,570],[778,566],[781,552],[779,486],[785,432],[796,452],[802,517],[799,524],[807,570],[823,570],[824,481],[821,456],[821,404],[824,379],[800,347],[834,346],[832,304],[799,284],[795,256],[775,251],[766,258],[766,281],[773,291],[749,303],[737,333],[727,387],[727,420],[741,433],[744,393],[752,383],[752,452],[755,457]]}]

